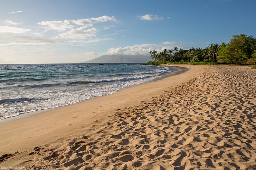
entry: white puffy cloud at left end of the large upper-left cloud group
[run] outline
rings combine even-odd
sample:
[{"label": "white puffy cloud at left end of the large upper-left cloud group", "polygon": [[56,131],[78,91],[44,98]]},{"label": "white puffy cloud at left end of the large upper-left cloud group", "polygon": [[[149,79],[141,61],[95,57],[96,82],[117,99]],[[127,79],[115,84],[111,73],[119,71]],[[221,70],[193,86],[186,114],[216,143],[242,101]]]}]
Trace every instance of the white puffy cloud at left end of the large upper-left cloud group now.
[{"label": "white puffy cloud at left end of the large upper-left cloud group", "polygon": [[68,29],[74,28],[73,25],[70,24],[69,21],[42,21],[38,22],[37,24],[46,26],[49,30],[57,30],[57,31],[65,31]]}]

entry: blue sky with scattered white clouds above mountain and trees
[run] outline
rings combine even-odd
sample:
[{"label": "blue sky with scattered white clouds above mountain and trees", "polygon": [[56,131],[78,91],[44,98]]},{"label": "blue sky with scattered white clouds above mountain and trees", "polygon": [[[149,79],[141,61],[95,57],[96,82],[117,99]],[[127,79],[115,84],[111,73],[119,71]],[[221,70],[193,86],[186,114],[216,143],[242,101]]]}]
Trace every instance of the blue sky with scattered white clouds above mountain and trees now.
[{"label": "blue sky with scattered white clouds above mountain and trees", "polygon": [[255,0],[0,0],[0,64],[207,47],[256,37]]}]

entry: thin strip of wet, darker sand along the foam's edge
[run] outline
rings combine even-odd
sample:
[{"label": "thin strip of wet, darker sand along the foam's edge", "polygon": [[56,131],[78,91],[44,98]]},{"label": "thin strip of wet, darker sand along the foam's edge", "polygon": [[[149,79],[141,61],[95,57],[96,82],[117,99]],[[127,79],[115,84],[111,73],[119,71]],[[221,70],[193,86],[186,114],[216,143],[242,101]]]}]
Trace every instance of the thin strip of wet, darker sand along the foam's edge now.
[{"label": "thin strip of wet, darker sand along the foam's edge", "polygon": [[[168,66],[168,67],[169,67],[170,65],[164,65],[164,66]],[[171,65],[171,66],[173,66],[173,65]],[[168,73],[168,74],[164,74],[164,75],[161,75],[160,77],[156,77],[156,78],[153,79],[153,80],[149,80],[149,81],[147,81],[147,82],[140,83],[140,84],[131,85],[131,86],[125,87],[125,88],[123,88],[123,89],[128,89],[128,88],[135,87],[135,86],[138,86],[138,85],[147,84],[147,83],[150,83],[150,82],[162,80],[162,79],[165,79],[165,78],[167,78],[167,77],[171,77],[171,76],[174,76],[174,75],[177,75],[177,74],[182,74],[183,72],[185,72],[185,71],[188,70],[187,68],[181,67],[181,66],[173,66],[173,67],[178,67],[178,68],[181,69],[181,70],[176,71],[176,72],[171,72],[171,73]],[[120,90],[116,91],[115,93],[117,93],[117,92],[119,92],[119,91],[121,91],[121,90],[123,90],[123,89],[120,89]],[[112,93],[112,94],[114,94],[114,93]],[[108,94],[108,95],[111,95],[111,94]],[[107,95],[103,95],[103,96],[107,96]],[[59,108],[62,108],[62,107],[71,106],[71,105],[74,105],[74,104],[78,104],[78,103],[81,103],[81,102],[84,102],[84,101],[87,101],[87,100],[91,100],[91,99],[94,99],[94,98],[100,98],[100,97],[103,97],[103,96],[91,97],[91,98],[89,98],[89,99],[81,100],[81,101],[79,101],[79,102],[71,103],[71,104],[64,105],[64,106],[58,106],[58,107],[53,107],[53,108],[35,110],[35,111],[30,111],[30,112],[27,112],[27,113],[20,114],[20,115],[15,115],[15,116],[12,116],[12,117],[8,117],[8,118],[5,118],[5,119],[1,119],[1,120],[0,120],[0,124],[12,122],[12,121],[19,120],[19,119],[24,119],[24,118],[27,118],[27,117],[31,117],[31,116],[38,115],[38,114],[42,114],[42,113],[49,112],[49,111],[53,111],[53,110],[55,110],[55,109],[59,109]]]}]

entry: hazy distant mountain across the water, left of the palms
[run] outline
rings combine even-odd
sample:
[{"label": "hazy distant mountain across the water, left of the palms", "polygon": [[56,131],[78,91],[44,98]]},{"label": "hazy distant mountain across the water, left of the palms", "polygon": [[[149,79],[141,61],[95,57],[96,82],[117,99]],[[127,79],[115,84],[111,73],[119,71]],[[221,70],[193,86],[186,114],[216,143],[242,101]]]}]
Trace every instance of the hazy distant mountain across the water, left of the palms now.
[{"label": "hazy distant mountain across the water, left of the palms", "polygon": [[82,63],[147,63],[150,61],[147,55],[101,55],[89,61]]}]

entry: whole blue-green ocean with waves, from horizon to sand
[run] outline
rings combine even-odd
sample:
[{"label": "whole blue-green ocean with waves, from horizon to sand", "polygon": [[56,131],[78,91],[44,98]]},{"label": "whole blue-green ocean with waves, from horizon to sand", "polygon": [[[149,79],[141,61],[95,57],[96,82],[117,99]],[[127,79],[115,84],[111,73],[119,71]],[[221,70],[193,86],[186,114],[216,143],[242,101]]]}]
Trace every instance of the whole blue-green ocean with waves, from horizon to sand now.
[{"label": "whole blue-green ocean with waves, from horizon to sand", "polygon": [[112,94],[177,70],[139,64],[1,64],[0,120]]}]

